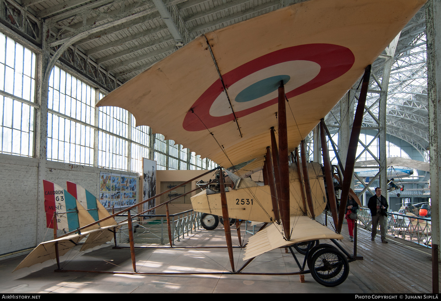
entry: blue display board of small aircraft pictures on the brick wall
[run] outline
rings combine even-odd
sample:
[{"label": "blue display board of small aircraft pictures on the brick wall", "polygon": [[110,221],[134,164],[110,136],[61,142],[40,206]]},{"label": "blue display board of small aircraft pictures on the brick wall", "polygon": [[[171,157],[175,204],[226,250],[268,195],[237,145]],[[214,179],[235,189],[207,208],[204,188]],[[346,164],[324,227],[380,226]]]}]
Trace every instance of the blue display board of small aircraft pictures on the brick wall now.
[{"label": "blue display board of small aircraft pictures on the brick wall", "polygon": [[128,207],[136,204],[138,178],[131,175],[100,173],[100,202],[105,208]]}]

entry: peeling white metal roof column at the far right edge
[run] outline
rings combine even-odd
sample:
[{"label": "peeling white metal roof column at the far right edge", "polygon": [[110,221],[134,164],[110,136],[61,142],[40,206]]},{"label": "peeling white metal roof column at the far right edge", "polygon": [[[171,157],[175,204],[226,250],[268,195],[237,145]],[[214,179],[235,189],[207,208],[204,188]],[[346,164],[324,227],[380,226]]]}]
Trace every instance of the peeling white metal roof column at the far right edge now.
[{"label": "peeling white metal roof column at the far right edge", "polygon": [[[439,246],[441,193],[441,2],[426,3],[427,33],[427,96],[430,135],[430,194],[432,205],[432,244]],[[438,248],[438,258],[440,258]]]}]

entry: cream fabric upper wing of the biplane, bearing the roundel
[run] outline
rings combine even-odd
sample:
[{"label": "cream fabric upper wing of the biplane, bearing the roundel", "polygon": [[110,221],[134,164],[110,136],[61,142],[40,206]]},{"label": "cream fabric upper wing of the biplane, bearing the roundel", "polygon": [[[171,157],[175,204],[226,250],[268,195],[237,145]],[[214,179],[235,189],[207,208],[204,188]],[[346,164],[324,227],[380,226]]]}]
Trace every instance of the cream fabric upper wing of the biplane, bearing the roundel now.
[{"label": "cream fabric upper wing of the biplane, bearing the roundel", "polygon": [[[206,33],[101,99],[223,166],[257,158],[288,98],[294,149],[426,0],[311,0]],[[216,62],[216,64],[215,64]]]}]

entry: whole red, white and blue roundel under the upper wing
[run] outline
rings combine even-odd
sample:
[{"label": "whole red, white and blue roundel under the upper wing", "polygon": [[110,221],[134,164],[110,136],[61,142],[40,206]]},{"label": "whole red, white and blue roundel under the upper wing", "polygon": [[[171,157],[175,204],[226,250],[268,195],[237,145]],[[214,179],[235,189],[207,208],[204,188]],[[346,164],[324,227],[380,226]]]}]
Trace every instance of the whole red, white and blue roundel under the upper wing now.
[{"label": "whole red, white and blue roundel under the upper wing", "polygon": [[354,54],[333,44],[306,44],[277,50],[249,61],[216,80],[191,106],[183,121],[187,131],[200,131],[240,118],[278,102],[283,80],[287,98],[318,88],[346,73]]}]

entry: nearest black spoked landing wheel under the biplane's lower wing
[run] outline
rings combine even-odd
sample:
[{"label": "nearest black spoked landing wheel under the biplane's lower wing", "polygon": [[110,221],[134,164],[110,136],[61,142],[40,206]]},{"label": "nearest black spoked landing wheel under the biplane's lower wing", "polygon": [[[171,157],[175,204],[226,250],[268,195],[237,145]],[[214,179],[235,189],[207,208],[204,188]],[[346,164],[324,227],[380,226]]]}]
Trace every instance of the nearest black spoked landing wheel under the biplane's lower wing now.
[{"label": "nearest black spoked landing wheel under the biplane's lower wing", "polygon": [[348,259],[337,250],[325,248],[312,256],[310,271],[322,286],[338,286],[348,278]]}]

